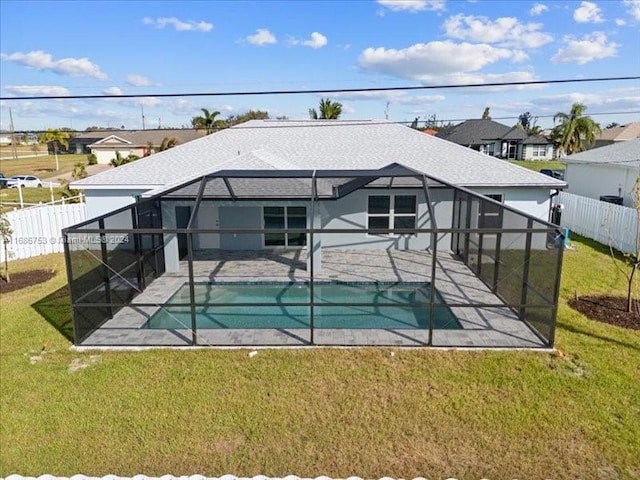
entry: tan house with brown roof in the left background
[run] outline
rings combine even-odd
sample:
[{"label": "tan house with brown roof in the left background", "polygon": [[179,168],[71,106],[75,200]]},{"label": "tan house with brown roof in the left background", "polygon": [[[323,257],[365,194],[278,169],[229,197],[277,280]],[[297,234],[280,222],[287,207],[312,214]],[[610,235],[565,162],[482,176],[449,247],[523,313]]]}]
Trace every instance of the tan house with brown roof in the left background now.
[{"label": "tan house with brown roof in the left background", "polygon": [[93,153],[98,163],[108,164],[116,152],[123,157],[143,157],[160,149],[163,141],[175,139],[177,144],[181,144],[203,136],[204,132],[192,129],[99,130],[76,134],[69,139],[67,151]]}]

